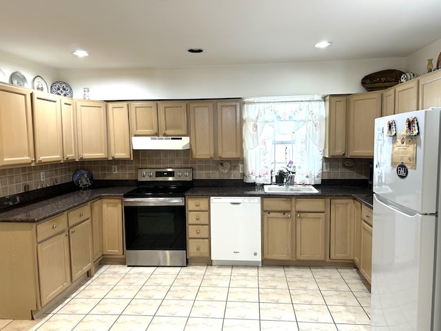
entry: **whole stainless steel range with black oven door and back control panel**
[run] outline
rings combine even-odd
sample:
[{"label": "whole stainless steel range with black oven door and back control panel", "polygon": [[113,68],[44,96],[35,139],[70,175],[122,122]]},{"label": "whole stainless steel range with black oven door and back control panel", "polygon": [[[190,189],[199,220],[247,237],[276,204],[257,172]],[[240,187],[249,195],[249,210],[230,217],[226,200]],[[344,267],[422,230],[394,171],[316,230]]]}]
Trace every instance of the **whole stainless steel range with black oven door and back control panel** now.
[{"label": "whole stainless steel range with black oven door and back control panel", "polygon": [[124,194],[127,265],[187,265],[185,192],[192,168],[139,169]]}]

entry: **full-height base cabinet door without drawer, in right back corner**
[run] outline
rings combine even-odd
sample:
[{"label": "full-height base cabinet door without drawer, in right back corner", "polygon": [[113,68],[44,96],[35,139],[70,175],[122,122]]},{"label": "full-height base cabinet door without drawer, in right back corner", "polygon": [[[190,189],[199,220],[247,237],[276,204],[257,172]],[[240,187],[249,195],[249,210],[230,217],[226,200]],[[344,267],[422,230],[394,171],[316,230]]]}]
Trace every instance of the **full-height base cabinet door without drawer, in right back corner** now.
[{"label": "full-height base cabinet door without drawer, in right back corner", "polygon": [[353,259],[353,225],[353,200],[331,199],[331,259]]}]

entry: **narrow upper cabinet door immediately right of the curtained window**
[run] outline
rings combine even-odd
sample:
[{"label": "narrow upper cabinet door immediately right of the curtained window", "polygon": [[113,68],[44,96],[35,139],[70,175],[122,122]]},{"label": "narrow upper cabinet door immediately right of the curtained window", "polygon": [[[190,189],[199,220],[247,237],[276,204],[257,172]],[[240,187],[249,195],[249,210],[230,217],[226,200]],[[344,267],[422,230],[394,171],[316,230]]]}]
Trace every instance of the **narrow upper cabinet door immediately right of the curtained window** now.
[{"label": "narrow upper cabinet door immediately right of the curtained window", "polygon": [[345,157],[347,97],[330,95],[325,98],[326,136],[324,157]]}]

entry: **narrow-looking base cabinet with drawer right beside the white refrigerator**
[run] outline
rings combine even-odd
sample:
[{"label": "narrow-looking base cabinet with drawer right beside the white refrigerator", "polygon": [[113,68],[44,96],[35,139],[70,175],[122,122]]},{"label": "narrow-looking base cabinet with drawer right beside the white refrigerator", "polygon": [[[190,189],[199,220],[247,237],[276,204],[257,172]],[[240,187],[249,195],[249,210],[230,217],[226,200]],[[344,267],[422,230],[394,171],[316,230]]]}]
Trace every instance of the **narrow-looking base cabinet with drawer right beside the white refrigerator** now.
[{"label": "narrow-looking base cabinet with drawer right beside the white refrigerator", "polygon": [[361,263],[360,272],[371,283],[372,273],[372,210],[366,205],[361,207]]}]

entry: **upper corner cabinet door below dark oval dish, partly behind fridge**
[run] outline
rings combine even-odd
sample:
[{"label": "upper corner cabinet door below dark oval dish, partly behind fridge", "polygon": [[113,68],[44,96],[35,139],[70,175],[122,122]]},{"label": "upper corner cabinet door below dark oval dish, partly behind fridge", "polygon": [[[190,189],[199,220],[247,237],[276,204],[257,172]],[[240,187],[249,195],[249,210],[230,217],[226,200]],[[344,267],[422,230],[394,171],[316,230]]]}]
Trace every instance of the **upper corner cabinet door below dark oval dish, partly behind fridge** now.
[{"label": "upper corner cabinet door below dark oval dish, partly behind fridge", "polygon": [[347,157],[373,157],[375,119],[381,117],[381,92],[349,96]]}]

